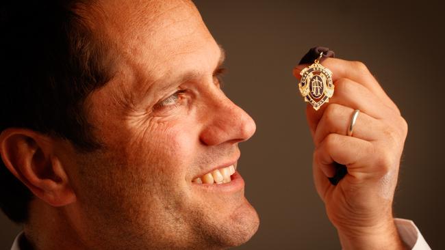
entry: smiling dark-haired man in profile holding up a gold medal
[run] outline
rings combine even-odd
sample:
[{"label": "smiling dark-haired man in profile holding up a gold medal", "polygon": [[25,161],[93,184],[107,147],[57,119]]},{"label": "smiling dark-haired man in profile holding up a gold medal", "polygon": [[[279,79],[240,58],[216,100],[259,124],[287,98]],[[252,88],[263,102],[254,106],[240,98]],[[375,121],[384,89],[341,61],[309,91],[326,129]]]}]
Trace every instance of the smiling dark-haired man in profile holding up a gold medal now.
[{"label": "smiling dark-haired man in profile holding up a gold medal", "polygon": [[[24,223],[13,249],[224,249],[255,234],[236,171],[255,123],[221,91],[223,49],[190,1],[2,12],[1,207]],[[335,94],[307,118],[316,188],[342,247],[422,244],[401,238],[392,217],[405,120],[363,64],[323,64]],[[334,161],[348,167],[336,186]]]}]

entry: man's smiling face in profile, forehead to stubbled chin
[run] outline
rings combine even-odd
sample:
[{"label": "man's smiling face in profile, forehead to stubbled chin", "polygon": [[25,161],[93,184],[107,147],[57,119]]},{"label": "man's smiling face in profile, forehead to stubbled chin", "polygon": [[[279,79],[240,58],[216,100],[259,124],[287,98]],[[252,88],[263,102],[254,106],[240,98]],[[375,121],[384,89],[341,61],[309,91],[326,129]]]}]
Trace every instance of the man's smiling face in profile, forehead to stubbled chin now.
[{"label": "man's smiling face in profile, forehead to stubbled chin", "polygon": [[228,183],[196,183],[236,166],[238,143],[255,123],[221,91],[223,53],[194,6],[103,1],[86,13],[110,40],[118,71],[88,98],[88,119],[105,147],[75,156],[69,223],[97,249],[249,240],[259,219],[238,172]]}]

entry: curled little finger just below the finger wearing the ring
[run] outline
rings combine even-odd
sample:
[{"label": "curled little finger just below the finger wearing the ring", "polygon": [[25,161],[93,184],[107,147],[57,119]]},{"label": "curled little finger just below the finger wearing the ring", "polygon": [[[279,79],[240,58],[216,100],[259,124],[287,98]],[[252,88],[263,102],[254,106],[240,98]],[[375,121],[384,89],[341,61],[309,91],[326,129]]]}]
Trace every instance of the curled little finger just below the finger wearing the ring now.
[{"label": "curled little finger just below the finger wearing the ring", "polygon": [[[374,145],[369,141],[348,137],[346,135],[329,134],[314,151],[314,163],[325,176],[332,177],[335,163],[348,167],[348,175],[356,178],[375,176]],[[367,166],[367,167],[365,167]],[[345,178],[346,178],[345,176]]]}]

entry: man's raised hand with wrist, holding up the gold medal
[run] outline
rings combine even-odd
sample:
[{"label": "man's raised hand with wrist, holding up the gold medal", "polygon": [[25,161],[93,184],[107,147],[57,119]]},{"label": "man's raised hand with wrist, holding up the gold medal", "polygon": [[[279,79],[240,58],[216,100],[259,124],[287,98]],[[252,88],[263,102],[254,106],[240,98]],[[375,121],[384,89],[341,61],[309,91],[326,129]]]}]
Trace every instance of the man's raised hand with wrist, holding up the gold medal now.
[{"label": "man's raised hand with wrist, holding up the gold medal", "polygon": [[[403,249],[392,200],[407,122],[364,64],[328,58],[322,65],[333,72],[335,91],[318,111],[307,105],[307,121],[315,144],[314,181],[327,215],[343,249]],[[303,68],[294,69],[298,79]],[[350,137],[355,109],[360,113]],[[334,162],[348,168],[336,186],[328,180]]]}]

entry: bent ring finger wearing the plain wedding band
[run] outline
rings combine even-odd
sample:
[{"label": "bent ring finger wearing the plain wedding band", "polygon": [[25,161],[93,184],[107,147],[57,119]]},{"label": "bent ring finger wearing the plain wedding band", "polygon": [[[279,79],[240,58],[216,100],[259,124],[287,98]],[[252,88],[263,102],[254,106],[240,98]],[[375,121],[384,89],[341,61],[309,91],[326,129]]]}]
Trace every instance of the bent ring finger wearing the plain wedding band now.
[{"label": "bent ring finger wearing the plain wedding band", "polygon": [[[331,133],[347,135],[353,112],[354,109],[350,107],[338,104],[329,105],[316,127],[314,134],[316,147]],[[364,112],[360,112],[353,128],[353,137],[366,141],[375,141],[381,139],[381,131],[383,130],[385,130],[384,124],[381,121],[370,117]]]}]

